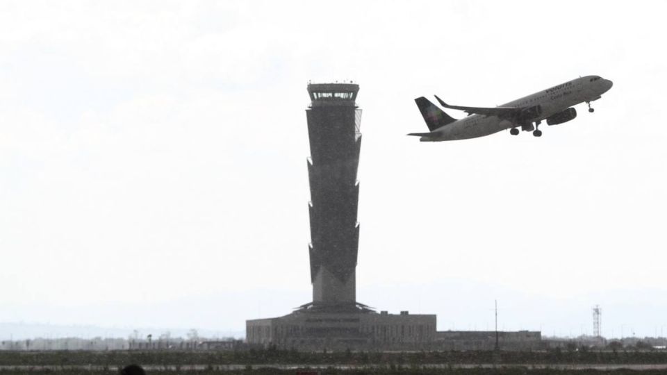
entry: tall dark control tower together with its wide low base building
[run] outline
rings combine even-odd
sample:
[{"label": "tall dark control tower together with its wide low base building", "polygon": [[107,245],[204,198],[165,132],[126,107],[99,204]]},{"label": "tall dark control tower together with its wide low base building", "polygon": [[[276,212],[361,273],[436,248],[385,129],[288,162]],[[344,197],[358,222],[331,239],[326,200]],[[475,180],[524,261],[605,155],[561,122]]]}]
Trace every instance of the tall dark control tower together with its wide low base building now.
[{"label": "tall dark control tower together with its wide low base building", "polygon": [[300,350],[418,350],[439,347],[446,338],[436,333],[436,315],[378,313],[356,300],[358,92],[359,85],[354,83],[308,85],[308,253],[313,301],[283,317],[248,320],[248,344]]}]

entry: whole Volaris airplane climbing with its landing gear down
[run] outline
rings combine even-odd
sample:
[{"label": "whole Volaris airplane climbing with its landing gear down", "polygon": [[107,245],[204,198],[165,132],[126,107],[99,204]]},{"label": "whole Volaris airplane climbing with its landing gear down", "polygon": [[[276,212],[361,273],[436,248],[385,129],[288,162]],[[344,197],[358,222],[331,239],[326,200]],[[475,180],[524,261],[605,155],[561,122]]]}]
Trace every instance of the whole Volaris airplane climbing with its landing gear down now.
[{"label": "whole Volaris airplane climbing with its landing gear down", "polygon": [[435,96],[444,108],[468,113],[468,117],[463,119],[454,119],[425,97],[419,97],[415,103],[429,127],[429,133],[408,135],[420,137],[422,142],[440,142],[484,137],[506,129],[511,129],[511,135],[518,135],[521,128],[541,137],[542,131],[538,126],[542,120],[546,120],[547,125],[568,122],[577,117],[573,106],[584,102],[588,105],[588,112],[593,113],[591,101],[600,99],[612,85],[614,83],[600,76],[579,77],[495,108],[450,106]]}]

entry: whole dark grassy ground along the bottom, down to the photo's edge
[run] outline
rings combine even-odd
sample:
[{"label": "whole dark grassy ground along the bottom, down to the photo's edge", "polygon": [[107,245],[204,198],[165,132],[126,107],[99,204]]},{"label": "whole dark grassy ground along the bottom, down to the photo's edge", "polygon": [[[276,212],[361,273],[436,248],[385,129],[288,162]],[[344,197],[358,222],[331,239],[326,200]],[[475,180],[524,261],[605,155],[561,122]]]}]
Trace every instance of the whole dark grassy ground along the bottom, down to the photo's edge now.
[{"label": "whole dark grassy ground along the bottom, down to the photo's edge", "polygon": [[[114,374],[667,374],[665,351],[3,351],[0,375]],[[652,366],[662,367],[652,369]],[[310,367],[310,369],[308,369]],[[627,367],[627,368],[624,368]]]}]

